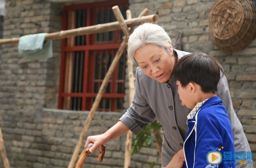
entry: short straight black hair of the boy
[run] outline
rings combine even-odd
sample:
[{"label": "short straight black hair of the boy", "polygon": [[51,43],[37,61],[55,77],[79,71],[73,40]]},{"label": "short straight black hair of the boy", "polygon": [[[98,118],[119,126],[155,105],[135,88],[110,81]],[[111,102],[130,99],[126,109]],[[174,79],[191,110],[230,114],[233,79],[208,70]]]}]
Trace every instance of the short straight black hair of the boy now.
[{"label": "short straight black hair of the boy", "polygon": [[201,86],[203,93],[215,93],[223,76],[223,68],[212,56],[198,52],[183,56],[176,63],[173,75],[182,87],[189,82],[195,82]]}]

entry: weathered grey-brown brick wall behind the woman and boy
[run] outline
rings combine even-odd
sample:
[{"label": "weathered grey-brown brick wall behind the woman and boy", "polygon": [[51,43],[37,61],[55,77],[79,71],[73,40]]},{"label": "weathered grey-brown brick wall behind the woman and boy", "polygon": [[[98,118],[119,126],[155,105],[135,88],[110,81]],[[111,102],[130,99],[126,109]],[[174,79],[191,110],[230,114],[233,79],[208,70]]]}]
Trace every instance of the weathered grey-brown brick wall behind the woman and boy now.
[{"label": "weathered grey-brown brick wall behind the woman and boy", "polygon": [[[223,52],[215,46],[208,28],[208,14],[214,2],[130,0],[129,8],[134,17],[147,7],[150,14],[158,14],[158,24],[169,32],[173,41],[180,30],[183,31],[182,50],[205,52],[221,62],[234,108],[255,153],[256,39],[239,52]],[[6,0],[3,38],[60,31],[62,7],[63,4],[50,1]],[[58,105],[61,40],[54,40],[53,45],[53,58],[34,61],[18,55],[17,44],[0,45],[0,126],[8,157],[14,167],[66,167],[87,116],[83,112],[54,110]],[[125,93],[128,94],[128,83],[125,86]],[[128,107],[128,98],[128,95],[125,96],[125,108]],[[120,115],[97,113],[89,134],[106,131]],[[102,125],[103,119],[107,126]],[[95,154],[87,158],[88,165],[95,168],[122,167],[123,144],[124,136],[107,144],[104,166],[96,163]],[[156,161],[155,167],[159,167],[161,161],[156,155],[156,148],[143,148],[132,158],[132,165],[149,167],[150,162]],[[255,159],[254,154],[254,167]],[[0,159],[2,166],[1,162]]]}]

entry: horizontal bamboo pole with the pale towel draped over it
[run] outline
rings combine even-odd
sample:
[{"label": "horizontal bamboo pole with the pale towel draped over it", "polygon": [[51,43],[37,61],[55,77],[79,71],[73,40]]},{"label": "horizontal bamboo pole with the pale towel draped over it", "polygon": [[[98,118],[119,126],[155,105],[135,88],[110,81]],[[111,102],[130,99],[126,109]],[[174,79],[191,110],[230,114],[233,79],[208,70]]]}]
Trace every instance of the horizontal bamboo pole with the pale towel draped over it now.
[{"label": "horizontal bamboo pole with the pale towel draped over it", "polygon": [[[136,17],[133,19],[125,20],[125,23],[128,27],[132,27],[135,25],[140,25],[145,22],[157,22],[157,21],[158,21],[158,15],[153,14],[153,15]],[[70,36],[94,34],[99,32],[109,32],[109,31],[119,30],[119,29],[121,29],[120,25],[118,21],[115,21],[110,23],[80,27],[77,29],[62,30],[60,32],[48,33],[45,37],[45,40],[61,39],[61,38],[66,38]],[[0,39],[0,44],[18,43],[19,39],[20,39],[19,37],[9,38],[9,39]]]}]

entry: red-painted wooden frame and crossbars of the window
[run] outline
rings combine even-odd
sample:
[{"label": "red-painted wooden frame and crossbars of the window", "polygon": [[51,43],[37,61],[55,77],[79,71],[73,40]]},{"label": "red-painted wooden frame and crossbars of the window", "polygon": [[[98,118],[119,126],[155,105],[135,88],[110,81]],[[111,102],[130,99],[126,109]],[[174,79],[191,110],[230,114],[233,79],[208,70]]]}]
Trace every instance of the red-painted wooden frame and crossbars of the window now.
[{"label": "red-painted wooden frame and crossbars of the window", "polygon": [[[86,4],[79,4],[79,5],[71,5],[65,6],[63,9],[63,18],[62,18],[62,29],[67,30],[68,28],[68,12],[70,10],[79,10],[79,9],[87,9],[86,15],[86,26],[89,25],[96,25],[96,11],[91,10],[99,6],[106,6],[106,5],[122,5],[127,6],[128,9],[128,0],[115,0],[115,1],[103,1],[103,2],[93,2],[93,3],[86,3]],[[58,108],[63,109],[63,100],[64,97],[81,97],[82,98],[82,105],[81,110],[90,110],[92,105],[92,97],[96,97],[97,93],[93,93],[93,66],[94,66],[94,58],[90,55],[91,51],[98,51],[98,50],[109,50],[109,49],[117,49],[120,47],[121,40],[120,40],[120,30],[114,31],[114,39],[111,42],[102,42],[102,43],[95,43],[96,34],[86,35],[85,41],[86,45],[80,46],[67,46],[67,39],[62,39],[62,51],[61,51],[61,66],[60,66],[60,84],[59,84],[59,99],[58,99]],[[66,63],[66,53],[67,52],[75,52],[75,51],[83,51],[84,52],[84,68],[83,68],[83,92],[81,93],[65,93],[64,92],[64,81],[65,81],[65,63]],[[116,53],[115,51],[115,53]],[[114,54],[115,54],[114,53]],[[116,98],[124,98],[124,93],[117,93],[116,84],[119,82],[124,83],[125,80],[117,80],[117,73],[118,67],[115,68],[113,72],[113,76],[111,79],[112,82],[112,93],[104,93],[102,98],[111,98],[111,109],[108,111],[117,111],[116,110]],[[96,80],[94,80],[95,82]],[[97,82],[97,81],[96,81]],[[98,81],[100,82],[100,81]],[[99,109],[99,111],[102,111]],[[121,111],[121,110],[119,110]]]}]

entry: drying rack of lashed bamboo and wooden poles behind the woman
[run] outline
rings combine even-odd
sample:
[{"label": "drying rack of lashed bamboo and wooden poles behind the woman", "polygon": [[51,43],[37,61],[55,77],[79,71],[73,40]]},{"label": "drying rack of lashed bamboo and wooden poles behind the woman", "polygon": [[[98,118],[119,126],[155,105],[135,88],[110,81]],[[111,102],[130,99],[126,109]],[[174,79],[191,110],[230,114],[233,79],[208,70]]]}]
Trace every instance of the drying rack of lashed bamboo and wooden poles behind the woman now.
[{"label": "drying rack of lashed bamboo and wooden poles behind the woman", "polygon": [[[73,168],[75,166],[75,162],[78,158],[78,154],[80,152],[83,140],[85,139],[85,136],[87,135],[88,129],[90,127],[91,121],[93,116],[95,115],[96,109],[99,105],[99,102],[102,98],[102,94],[105,92],[106,90],[106,86],[108,84],[109,78],[111,77],[115,67],[118,64],[118,61],[122,55],[122,53],[124,52],[126,46],[127,46],[127,42],[128,42],[128,36],[130,35],[130,31],[132,31],[134,29],[134,27],[136,25],[140,25],[142,23],[145,22],[157,22],[158,21],[158,16],[156,14],[153,15],[147,15],[147,13],[149,12],[148,9],[145,9],[142,11],[142,13],[139,15],[139,17],[136,18],[131,18],[131,11],[128,10],[128,18],[127,20],[124,20],[121,11],[119,9],[118,6],[113,6],[112,8],[115,17],[117,18],[118,21],[116,22],[110,22],[110,23],[106,23],[106,24],[99,24],[99,25],[93,25],[93,26],[87,26],[87,27],[80,27],[77,29],[69,29],[69,30],[64,30],[64,31],[60,31],[60,32],[54,32],[54,33],[49,33],[46,35],[46,40],[50,40],[50,39],[61,39],[61,38],[67,38],[70,36],[78,36],[78,35],[86,35],[86,34],[92,34],[92,33],[98,33],[98,32],[107,32],[107,31],[113,31],[113,30],[118,30],[118,29],[122,29],[122,31],[124,32],[124,36],[123,36],[123,41],[120,45],[120,48],[118,49],[106,75],[105,78],[103,79],[103,82],[100,86],[100,89],[98,91],[98,94],[95,98],[95,101],[91,107],[90,113],[86,118],[85,124],[84,124],[84,128],[82,130],[82,132],[80,133],[80,137],[78,140],[78,143],[76,144],[75,150],[73,152],[72,158],[69,162],[69,166],[68,168]],[[131,29],[128,29],[128,27],[131,27]],[[18,43],[19,38],[9,38],[9,39],[0,39],[0,44],[14,44],[14,43]],[[133,76],[133,68],[132,68],[132,60],[128,59],[128,75],[129,75],[129,102],[130,104],[132,103],[132,97],[134,95],[135,92],[135,78]],[[130,166],[130,160],[131,160],[131,140],[132,140],[132,133],[131,131],[129,131],[127,133],[127,138],[126,138],[126,147],[125,147],[125,161],[124,161],[124,167],[128,168]],[[0,151],[2,154],[2,159],[4,162],[4,166],[5,168],[9,168],[9,161],[8,158],[6,156],[6,151],[4,148],[4,143],[3,143],[3,139],[2,139],[2,132],[1,132],[1,128],[0,128]]]}]

